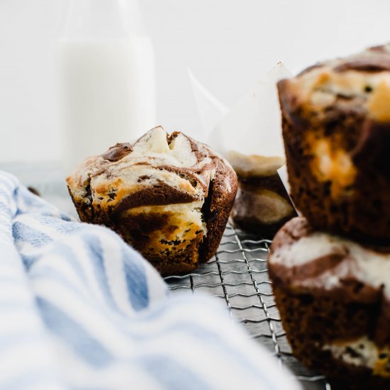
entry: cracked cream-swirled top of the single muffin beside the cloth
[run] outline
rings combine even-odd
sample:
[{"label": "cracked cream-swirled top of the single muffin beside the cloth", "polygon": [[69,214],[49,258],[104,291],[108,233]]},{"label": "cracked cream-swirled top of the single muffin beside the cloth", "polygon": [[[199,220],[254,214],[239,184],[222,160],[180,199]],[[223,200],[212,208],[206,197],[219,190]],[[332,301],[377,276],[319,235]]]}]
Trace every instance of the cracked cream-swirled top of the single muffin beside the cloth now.
[{"label": "cracked cream-swirled top of the single muffin beside the cloth", "polygon": [[[217,171],[224,177],[218,185],[227,193],[235,191],[237,178],[226,160],[183,133],[169,135],[157,127],[133,145],[117,144],[87,158],[67,177],[67,184],[75,201],[113,212],[203,202]],[[154,189],[152,194],[148,188]]]}]

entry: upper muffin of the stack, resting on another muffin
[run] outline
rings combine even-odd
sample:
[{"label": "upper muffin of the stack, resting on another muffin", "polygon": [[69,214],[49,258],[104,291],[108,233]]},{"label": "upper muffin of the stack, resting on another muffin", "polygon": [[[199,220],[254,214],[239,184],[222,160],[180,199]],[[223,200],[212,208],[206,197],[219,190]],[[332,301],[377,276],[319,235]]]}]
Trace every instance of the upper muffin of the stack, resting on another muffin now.
[{"label": "upper muffin of the stack, resting on another muffin", "polygon": [[278,83],[291,197],[314,228],[390,244],[390,45]]}]

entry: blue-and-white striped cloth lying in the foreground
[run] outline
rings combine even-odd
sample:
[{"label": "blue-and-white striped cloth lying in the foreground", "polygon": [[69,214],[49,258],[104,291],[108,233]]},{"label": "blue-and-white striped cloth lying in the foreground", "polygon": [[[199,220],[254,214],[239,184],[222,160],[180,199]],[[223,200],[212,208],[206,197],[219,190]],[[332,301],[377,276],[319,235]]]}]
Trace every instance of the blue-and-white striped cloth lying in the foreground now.
[{"label": "blue-and-white striped cloth lying in the foreground", "polygon": [[0,172],[0,389],[299,389],[213,299]]}]

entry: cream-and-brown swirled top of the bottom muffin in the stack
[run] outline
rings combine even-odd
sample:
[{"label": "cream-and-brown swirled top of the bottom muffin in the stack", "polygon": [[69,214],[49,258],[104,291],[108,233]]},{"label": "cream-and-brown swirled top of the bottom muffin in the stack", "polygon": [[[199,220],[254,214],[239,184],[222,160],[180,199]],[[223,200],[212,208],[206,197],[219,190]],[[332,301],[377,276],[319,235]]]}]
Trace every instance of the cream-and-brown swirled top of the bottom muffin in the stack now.
[{"label": "cream-and-brown swirled top of the bottom muffin in the stack", "polygon": [[269,266],[287,286],[319,294],[333,291],[363,303],[384,294],[390,303],[390,247],[364,247],[314,231],[303,217],[291,219],[279,230]]}]

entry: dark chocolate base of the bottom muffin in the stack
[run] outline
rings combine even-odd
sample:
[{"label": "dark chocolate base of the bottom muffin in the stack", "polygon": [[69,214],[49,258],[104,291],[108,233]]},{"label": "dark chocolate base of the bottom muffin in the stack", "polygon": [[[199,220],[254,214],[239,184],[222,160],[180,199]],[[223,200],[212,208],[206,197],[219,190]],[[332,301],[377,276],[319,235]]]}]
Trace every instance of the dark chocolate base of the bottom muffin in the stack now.
[{"label": "dark chocolate base of the bottom muffin in the stack", "polygon": [[324,374],[332,389],[390,389],[390,371],[386,376],[376,375],[368,367],[347,364],[323,349],[334,340],[354,340],[363,335],[375,338],[373,319],[378,316],[379,303],[345,303],[277,284],[273,289],[287,340],[303,365]]}]

